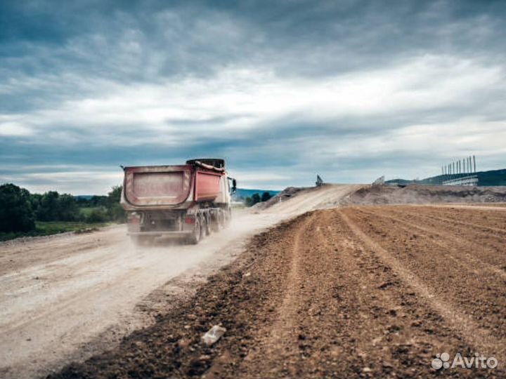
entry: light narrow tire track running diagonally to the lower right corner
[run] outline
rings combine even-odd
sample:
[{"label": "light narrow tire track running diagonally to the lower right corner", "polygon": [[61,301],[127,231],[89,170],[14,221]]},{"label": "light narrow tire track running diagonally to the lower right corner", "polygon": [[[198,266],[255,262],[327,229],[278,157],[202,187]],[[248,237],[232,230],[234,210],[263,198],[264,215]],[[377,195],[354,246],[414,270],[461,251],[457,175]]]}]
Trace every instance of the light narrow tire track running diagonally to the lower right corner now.
[{"label": "light narrow tire track running diagonally to the lower right corner", "polygon": [[[349,210],[347,211],[349,212]],[[504,340],[498,340],[489,331],[476,324],[470,317],[453,309],[453,307],[450,307],[443,299],[437,298],[434,291],[431,291],[413,272],[401,265],[401,262],[394,258],[389,251],[380,246],[380,244],[377,244],[368,234],[365,234],[355,222],[351,221],[344,211],[339,211],[339,214],[352,232],[356,234],[364,244],[372,248],[380,259],[389,265],[408,286],[412,287],[418,295],[427,300],[428,304],[436,310],[436,312],[441,314],[447,324],[453,326],[467,343],[478,347],[480,352],[489,354],[489,356],[493,355],[498,358],[499,361],[504,361],[506,358]]]}]

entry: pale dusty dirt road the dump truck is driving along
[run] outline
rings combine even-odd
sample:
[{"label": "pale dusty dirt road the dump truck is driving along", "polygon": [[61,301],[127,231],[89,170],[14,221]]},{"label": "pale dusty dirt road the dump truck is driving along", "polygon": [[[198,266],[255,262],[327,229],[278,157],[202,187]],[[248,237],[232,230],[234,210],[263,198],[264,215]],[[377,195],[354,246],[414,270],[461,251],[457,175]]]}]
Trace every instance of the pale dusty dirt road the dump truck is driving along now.
[{"label": "pale dusty dirt road the dump truck is driving along", "polygon": [[193,293],[248,237],[356,188],[328,186],[284,211],[236,214],[198,246],[134,248],[123,226],[1,244],[0,377],[32,378],[115,346]]}]

